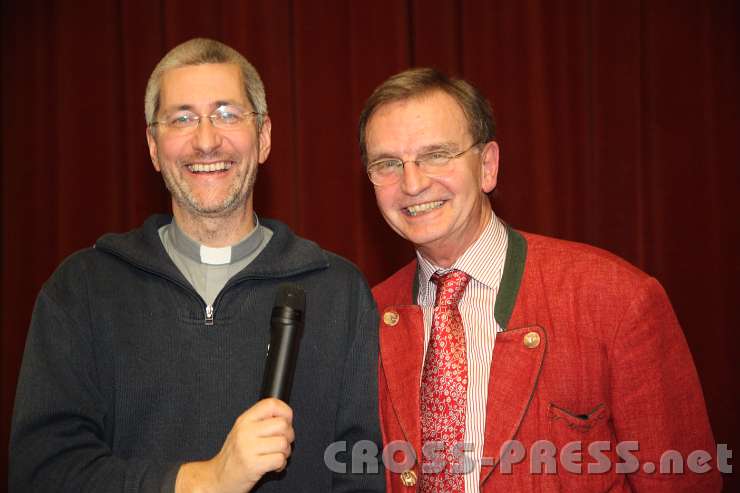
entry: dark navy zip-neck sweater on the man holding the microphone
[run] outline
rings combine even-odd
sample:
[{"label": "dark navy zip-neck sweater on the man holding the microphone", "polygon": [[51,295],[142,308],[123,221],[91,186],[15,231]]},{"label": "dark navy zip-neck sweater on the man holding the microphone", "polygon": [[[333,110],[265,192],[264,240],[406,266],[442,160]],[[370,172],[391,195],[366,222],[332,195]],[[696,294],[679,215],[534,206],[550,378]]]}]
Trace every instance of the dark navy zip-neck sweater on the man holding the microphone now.
[{"label": "dark navy zip-neck sweater on the man holding the microphone", "polygon": [[[382,474],[334,474],[337,440],[380,443],[377,315],[346,260],[262,220],[274,235],[213,303],[172,263],[153,216],[65,260],[39,294],[10,443],[13,492],[172,491],[259,398],[278,286],[306,291],[286,471],[254,491],[382,491]],[[341,460],[341,457],[340,457]],[[348,470],[350,468],[348,467]]]}]

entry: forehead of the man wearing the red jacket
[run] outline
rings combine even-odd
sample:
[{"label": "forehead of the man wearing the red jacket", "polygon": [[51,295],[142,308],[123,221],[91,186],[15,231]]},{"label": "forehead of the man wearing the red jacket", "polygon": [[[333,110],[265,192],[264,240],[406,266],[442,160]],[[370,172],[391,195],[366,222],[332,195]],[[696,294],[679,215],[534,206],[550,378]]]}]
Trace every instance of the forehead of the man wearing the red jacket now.
[{"label": "forehead of the man wearing the red jacket", "polygon": [[436,144],[466,144],[468,123],[455,99],[443,91],[379,106],[366,127],[368,153],[413,152]]}]

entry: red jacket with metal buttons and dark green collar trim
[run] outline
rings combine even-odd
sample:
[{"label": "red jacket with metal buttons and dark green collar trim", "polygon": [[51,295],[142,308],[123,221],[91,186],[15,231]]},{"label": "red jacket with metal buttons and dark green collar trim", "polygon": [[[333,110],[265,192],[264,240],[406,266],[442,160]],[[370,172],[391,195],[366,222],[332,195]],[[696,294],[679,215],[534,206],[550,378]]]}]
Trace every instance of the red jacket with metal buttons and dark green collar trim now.
[{"label": "red jacket with metal buttons and dark green collar trim", "polygon": [[[505,330],[496,335],[491,362],[483,453],[488,464],[481,469],[481,491],[720,491],[716,445],[699,379],[658,282],[597,248],[511,229],[508,234],[495,305],[496,320]],[[421,309],[413,301],[415,274],[414,261],[373,294],[381,314],[384,444],[406,441],[421,457],[424,330]],[[501,462],[502,445],[509,440],[521,448],[511,449]],[[554,445],[556,458],[566,444],[580,442],[583,473],[569,471],[573,467],[566,469],[560,460],[555,474],[546,474],[544,467],[532,473],[532,447],[538,440]],[[639,442],[639,450],[623,443],[626,453],[617,454],[619,442],[632,440]],[[608,451],[590,453],[589,445],[599,441],[608,442]],[[659,473],[661,454],[669,450],[681,454],[683,474]],[[710,472],[689,471],[686,460],[695,450],[711,454]],[[525,456],[519,459],[521,453]],[[638,472],[616,471],[618,463],[628,467],[637,464],[635,459]],[[607,460],[608,471],[585,474],[589,463]],[[419,462],[404,471],[387,467],[388,491],[415,491]],[[656,466],[654,473],[643,470],[647,462]]]}]

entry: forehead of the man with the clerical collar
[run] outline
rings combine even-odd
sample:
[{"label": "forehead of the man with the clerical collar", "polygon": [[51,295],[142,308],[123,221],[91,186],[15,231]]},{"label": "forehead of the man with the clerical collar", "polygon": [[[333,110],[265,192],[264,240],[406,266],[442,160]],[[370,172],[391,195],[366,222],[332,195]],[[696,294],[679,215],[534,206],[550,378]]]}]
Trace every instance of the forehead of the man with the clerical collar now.
[{"label": "forehead of the man with the clerical collar", "polygon": [[246,103],[238,66],[227,63],[188,65],[162,75],[160,108],[211,106],[217,101]]}]

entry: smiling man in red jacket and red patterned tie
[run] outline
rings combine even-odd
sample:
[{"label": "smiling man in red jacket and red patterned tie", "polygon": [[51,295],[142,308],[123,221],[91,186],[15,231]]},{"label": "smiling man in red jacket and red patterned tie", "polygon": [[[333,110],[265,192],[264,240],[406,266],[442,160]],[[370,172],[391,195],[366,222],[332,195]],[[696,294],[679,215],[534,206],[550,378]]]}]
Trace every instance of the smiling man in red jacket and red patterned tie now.
[{"label": "smiling man in red jacket and red patterned tie", "polygon": [[[664,291],[493,213],[499,147],[475,88],[397,74],[359,138],[381,214],[416,248],[373,290],[383,441],[403,452],[388,491],[720,490],[715,463],[699,465],[717,449]],[[686,467],[659,473],[671,451]]]}]

